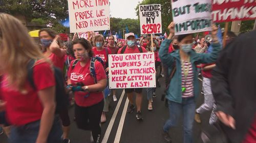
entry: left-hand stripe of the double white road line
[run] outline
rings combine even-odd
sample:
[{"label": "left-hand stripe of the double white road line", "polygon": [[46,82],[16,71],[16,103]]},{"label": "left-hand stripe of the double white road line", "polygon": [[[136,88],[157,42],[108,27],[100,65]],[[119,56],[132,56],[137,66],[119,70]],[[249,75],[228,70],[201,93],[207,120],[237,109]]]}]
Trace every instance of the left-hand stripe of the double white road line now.
[{"label": "left-hand stripe of the double white road line", "polygon": [[119,99],[119,101],[118,101],[118,103],[117,103],[117,105],[116,105],[115,111],[114,111],[114,113],[113,113],[113,115],[112,115],[112,118],[111,118],[111,120],[110,120],[110,124],[109,124],[108,128],[106,129],[106,132],[105,132],[105,134],[104,134],[104,137],[103,137],[101,143],[106,143],[106,142],[108,141],[108,139],[109,139],[110,132],[111,132],[111,130],[112,130],[112,128],[113,128],[113,125],[114,125],[114,123],[115,123],[116,116],[117,116],[118,110],[119,110],[119,108],[120,108],[120,105],[121,105],[121,103],[122,103],[124,93],[125,93],[125,92],[124,92],[124,90],[123,90],[123,92],[122,92],[122,94],[121,94],[121,96],[120,96],[120,99]]}]

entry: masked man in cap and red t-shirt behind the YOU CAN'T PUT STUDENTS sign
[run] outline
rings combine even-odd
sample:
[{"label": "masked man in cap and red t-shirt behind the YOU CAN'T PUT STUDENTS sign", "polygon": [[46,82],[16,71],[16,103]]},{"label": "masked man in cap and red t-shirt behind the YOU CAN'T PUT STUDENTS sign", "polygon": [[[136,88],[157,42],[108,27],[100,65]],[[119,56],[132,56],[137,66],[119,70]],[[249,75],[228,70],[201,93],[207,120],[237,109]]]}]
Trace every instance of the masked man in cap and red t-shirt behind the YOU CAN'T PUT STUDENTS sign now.
[{"label": "masked man in cap and red t-shirt behind the YOU CAN'T PUT STUDENTS sign", "polygon": [[[126,44],[127,46],[125,47],[125,50],[123,53],[140,53],[140,50],[138,48],[138,46],[135,44],[136,42],[136,38],[134,33],[129,33],[127,35],[126,38]],[[122,49],[124,48],[120,48],[118,50],[118,54],[122,53]],[[146,49],[144,47],[141,47],[142,52],[147,52]],[[141,115],[141,103],[142,103],[142,89],[124,89],[125,93],[130,101],[130,106],[127,110],[128,113],[132,113],[135,109],[134,106],[134,101],[133,101],[133,92],[136,93],[136,106],[137,106],[137,115],[136,118],[137,120],[142,120],[142,115]]]}]

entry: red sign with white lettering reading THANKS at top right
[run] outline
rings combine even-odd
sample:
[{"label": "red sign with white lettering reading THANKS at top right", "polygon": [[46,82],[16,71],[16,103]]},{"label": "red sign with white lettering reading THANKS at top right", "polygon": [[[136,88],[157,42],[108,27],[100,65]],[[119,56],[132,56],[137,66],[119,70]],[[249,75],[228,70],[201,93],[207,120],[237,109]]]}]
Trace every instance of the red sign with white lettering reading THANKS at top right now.
[{"label": "red sign with white lettering reading THANKS at top right", "polygon": [[256,19],[255,0],[214,0],[212,2],[212,20],[227,22]]}]

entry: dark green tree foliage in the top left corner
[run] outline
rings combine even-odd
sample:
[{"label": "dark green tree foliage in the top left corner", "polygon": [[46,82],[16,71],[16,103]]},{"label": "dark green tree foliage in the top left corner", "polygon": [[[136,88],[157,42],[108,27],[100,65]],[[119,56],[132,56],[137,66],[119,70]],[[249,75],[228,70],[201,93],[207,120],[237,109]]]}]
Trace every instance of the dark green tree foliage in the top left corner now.
[{"label": "dark green tree foliage in the top left corner", "polygon": [[[0,11],[26,17],[26,22],[38,22],[65,30],[58,23],[68,17],[68,1],[58,0],[2,0]],[[56,26],[56,27],[55,27]],[[59,32],[59,31],[58,31]]]}]

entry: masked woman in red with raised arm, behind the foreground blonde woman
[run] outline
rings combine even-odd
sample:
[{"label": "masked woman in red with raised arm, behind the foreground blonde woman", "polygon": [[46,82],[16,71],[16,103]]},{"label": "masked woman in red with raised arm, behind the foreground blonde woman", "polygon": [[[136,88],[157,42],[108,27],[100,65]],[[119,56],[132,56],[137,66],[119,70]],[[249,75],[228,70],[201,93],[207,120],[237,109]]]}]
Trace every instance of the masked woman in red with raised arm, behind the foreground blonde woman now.
[{"label": "masked woman in red with raised arm, behind the foreground blonde woman", "polygon": [[[39,37],[42,46],[46,49],[44,56],[52,61],[53,65],[64,70],[66,50],[61,49],[59,45],[59,36],[51,28],[42,28],[39,31]],[[68,108],[63,108],[59,112],[60,119],[62,121],[63,140],[70,142],[68,139],[70,131],[70,118]]]}]

